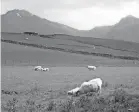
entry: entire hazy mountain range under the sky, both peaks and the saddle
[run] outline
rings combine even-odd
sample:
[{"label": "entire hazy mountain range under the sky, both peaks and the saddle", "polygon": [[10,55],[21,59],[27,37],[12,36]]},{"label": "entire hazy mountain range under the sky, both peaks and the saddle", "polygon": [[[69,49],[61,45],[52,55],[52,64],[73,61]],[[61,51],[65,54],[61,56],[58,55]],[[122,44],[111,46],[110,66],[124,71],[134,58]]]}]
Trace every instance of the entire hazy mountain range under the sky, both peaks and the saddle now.
[{"label": "entire hazy mountain range under the sky, both peaks and the saddle", "polygon": [[139,18],[131,15],[112,26],[91,30],[77,30],[69,26],[40,18],[26,10],[11,10],[1,16],[2,32],[38,32],[40,34],[68,34],[82,37],[108,38],[139,43]]}]

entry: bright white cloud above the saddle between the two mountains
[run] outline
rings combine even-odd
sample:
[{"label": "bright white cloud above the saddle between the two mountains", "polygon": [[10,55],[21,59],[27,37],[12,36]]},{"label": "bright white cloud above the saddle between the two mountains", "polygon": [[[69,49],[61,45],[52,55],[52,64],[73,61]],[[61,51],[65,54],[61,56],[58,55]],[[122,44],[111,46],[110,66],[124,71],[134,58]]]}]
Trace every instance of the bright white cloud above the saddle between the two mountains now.
[{"label": "bright white cloud above the saddle between the two mountains", "polygon": [[95,26],[116,24],[127,15],[139,17],[138,10],[139,4],[137,2],[127,2],[122,4],[121,8],[109,9],[94,6],[67,11],[52,10],[46,11],[45,14],[49,20],[64,23],[80,30],[89,30]]}]

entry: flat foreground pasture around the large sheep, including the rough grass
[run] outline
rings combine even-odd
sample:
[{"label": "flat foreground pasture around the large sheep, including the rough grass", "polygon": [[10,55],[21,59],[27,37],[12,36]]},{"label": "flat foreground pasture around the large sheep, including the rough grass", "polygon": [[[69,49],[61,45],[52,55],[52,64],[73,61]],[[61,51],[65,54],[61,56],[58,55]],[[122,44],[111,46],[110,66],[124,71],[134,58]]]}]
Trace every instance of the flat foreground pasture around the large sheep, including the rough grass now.
[{"label": "flat foreground pasture around the large sheep, including the rough grass", "polygon": [[[42,72],[34,71],[32,66],[3,66],[2,90],[14,91],[16,94],[2,93],[2,110],[3,112],[7,110],[21,112],[67,112],[69,110],[74,112],[76,110],[75,112],[80,112],[78,109],[84,111],[90,109],[99,112],[100,109],[103,111],[106,109],[105,112],[108,112],[110,109],[109,112],[111,112],[132,109],[133,112],[138,112],[138,73],[138,67],[98,67],[96,71],[89,71],[85,67],[50,67],[49,72]],[[96,77],[100,77],[104,83],[99,99],[95,96],[81,96],[74,99],[68,97],[67,91]],[[124,91],[117,91],[119,88]],[[117,103],[111,101],[111,95],[118,98]],[[125,99],[124,103],[123,99]],[[99,100],[101,103],[96,104]],[[103,100],[113,103],[105,104]],[[80,106],[76,103],[74,107],[74,101],[79,101]],[[128,106],[126,106],[127,102],[129,102]],[[85,106],[82,107],[82,105]],[[86,108],[88,106],[89,108]]]}]

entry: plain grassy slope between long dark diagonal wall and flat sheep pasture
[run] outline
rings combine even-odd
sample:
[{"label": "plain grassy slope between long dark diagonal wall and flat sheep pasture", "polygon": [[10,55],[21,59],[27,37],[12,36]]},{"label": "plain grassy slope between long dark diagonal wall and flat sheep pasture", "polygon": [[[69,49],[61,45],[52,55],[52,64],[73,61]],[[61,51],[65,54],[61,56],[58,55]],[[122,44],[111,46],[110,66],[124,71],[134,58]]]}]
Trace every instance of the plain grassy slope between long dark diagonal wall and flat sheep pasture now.
[{"label": "plain grassy slope between long dark diagonal wall and flat sheep pasture", "polygon": [[98,56],[44,50],[10,43],[1,43],[2,65],[50,65],[50,66],[138,66],[133,61],[109,59]]}]

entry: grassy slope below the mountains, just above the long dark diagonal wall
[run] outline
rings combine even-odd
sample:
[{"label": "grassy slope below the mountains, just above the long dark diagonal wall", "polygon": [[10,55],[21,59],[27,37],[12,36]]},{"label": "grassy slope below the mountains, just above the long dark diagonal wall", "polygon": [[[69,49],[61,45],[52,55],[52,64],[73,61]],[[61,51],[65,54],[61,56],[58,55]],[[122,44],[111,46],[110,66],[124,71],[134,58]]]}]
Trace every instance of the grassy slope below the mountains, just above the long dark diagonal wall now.
[{"label": "grassy slope below the mountains, just above the long dark diagonal wall", "polygon": [[[112,54],[114,56],[139,57],[137,49],[139,48],[139,45],[137,43],[129,43],[123,41],[119,42],[103,39],[100,40],[88,37],[86,38],[72,37],[66,35],[54,35],[51,37],[53,38],[41,38],[39,36],[28,36],[24,34],[7,34],[7,33],[2,34],[2,38],[5,40],[14,40],[23,43],[38,44],[47,47],[68,49],[74,52],[83,51],[86,53],[95,53],[99,55]],[[25,38],[28,38],[28,40],[25,40]],[[95,45],[95,49],[93,48],[93,45]],[[119,46],[122,48],[119,48]],[[132,48],[132,50],[128,49],[129,47]]]}]

